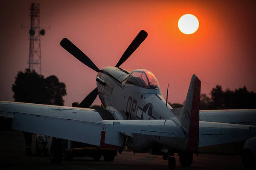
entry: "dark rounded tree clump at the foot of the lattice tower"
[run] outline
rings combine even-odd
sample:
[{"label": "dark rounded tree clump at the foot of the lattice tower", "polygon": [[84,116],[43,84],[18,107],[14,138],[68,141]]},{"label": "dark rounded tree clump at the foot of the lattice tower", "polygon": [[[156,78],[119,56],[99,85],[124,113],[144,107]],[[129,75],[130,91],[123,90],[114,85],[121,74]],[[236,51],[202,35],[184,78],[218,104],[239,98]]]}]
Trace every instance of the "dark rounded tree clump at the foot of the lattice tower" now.
[{"label": "dark rounded tree clump at the foot of the lattice tower", "polygon": [[28,102],[47,105],[63,105],[62,96],[67,94],[66,85],[56,76],[44,76],[26,69],[19,71],[12,85],[15,102]]}]

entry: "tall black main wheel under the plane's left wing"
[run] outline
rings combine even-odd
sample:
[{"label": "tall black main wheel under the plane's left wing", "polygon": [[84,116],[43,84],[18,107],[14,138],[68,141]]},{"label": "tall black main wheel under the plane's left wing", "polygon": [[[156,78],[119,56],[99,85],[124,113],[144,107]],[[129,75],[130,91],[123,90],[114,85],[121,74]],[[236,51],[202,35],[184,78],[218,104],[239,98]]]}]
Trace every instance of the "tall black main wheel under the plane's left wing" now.
[{"label": "tall black main wheel under the plane's left wing", "polygon": [[50,149],[50,160],[52,164],[60,164],[63,157],[62,139],[52,139],[52,146]]}]

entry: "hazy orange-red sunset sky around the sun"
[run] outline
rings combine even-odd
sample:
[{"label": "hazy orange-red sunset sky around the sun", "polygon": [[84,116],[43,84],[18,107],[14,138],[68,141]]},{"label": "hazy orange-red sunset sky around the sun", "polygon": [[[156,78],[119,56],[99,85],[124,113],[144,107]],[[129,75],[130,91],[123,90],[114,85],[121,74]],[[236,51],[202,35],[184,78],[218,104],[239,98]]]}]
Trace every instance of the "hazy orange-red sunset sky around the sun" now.
[{"label": "hazy orange-red sunset sky around the sun", "polygon": [[[70,39],[102,68],[116,65],[142,29],[148,37],[121,68],[150,70],[163,96],[169,83],[169,102],[183,103],[192,74],[209,83],[202,83],[201,93],[209,94],[217,84],[231,90],[246,85],[256,92],[254,0],[0,2],[0,100],[14,101],[15,76],[28,68],[29,28],[21,28],[21,23],[29,26],[32,2],[40,3],[41,27],[51,27],[41,37],[42,74],[55,75],[66,84],[67,106],[81,102],[96,87],[97,73],[65,51],[59,45],[62,38]],[[183,14],[198,18],[194,34],[179,31]]]}]

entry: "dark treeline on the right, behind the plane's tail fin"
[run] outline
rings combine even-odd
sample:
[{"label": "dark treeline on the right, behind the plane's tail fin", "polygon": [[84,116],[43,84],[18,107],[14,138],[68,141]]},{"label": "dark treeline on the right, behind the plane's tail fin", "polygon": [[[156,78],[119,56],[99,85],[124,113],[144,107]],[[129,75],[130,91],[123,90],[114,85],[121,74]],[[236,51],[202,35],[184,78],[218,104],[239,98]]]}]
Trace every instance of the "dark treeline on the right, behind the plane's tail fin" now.
[{"label": "dark treeline on the right, behind the plane's tail fin", "polygon": [[[172,108],[183,107],[179,103],[169,103]],[[231,91],[227,88],[222,90],[221,85],[216,85],[212,88],[210,96],[201,94],[200,110],[212,109],[255,109],[256,108],[256,93],[249,92],[246,87]]]}]

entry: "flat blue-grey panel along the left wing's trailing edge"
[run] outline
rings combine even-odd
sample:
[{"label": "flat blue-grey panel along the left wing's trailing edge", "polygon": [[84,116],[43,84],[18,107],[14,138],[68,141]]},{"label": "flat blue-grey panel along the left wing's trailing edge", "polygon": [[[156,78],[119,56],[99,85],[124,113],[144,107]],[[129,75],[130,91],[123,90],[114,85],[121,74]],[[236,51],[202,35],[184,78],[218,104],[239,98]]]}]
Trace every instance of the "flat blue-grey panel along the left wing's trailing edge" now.
[{"label": "flat blue-grey panel along the left wing's trailing edge", "polygon": [[14,113],[12,129],[100,145],[102,124]]}]

